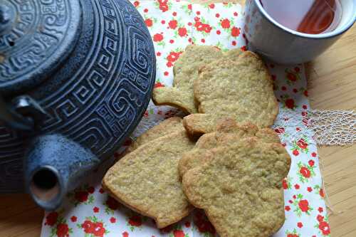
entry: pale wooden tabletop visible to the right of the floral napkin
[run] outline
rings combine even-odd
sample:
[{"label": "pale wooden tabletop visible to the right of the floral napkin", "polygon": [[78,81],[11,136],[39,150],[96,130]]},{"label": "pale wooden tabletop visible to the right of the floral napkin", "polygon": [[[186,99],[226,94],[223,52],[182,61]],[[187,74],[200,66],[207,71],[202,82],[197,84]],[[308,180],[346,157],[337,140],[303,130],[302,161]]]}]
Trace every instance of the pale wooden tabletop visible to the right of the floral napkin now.
[{"label": "pale wooden tabletop visible to the right of the floral napkin", "polygon": [[[306,65],[313,109],[356,112],[356,25],[322,56]],[[356,236],[356,144],[318,149],[335,237]]]}]

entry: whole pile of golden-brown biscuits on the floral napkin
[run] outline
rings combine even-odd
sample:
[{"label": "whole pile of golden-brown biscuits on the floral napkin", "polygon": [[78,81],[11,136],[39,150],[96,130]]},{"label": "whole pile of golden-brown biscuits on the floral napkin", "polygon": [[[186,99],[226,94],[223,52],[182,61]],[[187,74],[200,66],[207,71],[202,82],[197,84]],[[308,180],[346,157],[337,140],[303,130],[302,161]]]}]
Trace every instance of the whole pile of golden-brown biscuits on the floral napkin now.
[{"label": "whole pile of golden-brown biscuits on the floral napkin", "polygon": [[188,46],[174,65],[172,88],[155,88],[152,99],[189,115],[138,137],[103,187],[158,228],[199,208],[221,237],[276,233],[285,220],[282,179],[290,157],[268,128],[278,102],[261,58]]}]

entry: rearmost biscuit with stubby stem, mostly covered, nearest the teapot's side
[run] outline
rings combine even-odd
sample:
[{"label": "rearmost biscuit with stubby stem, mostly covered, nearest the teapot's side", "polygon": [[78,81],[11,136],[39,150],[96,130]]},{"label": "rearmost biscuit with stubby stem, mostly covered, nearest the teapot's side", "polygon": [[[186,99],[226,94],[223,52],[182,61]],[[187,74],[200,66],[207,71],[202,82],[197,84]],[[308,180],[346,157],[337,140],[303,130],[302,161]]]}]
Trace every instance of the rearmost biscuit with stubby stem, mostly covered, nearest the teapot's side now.
[{"label": "rearmost biscuit with stubby stem, mostly covered, nearest the teapot's side", "polygon": [[155,105],[171,105],[187,113],[198,112],[194,101],[193,82],[198,77],[202,65],[223,56],[214,46],[187,46],[174,63],[172,87],[155,88],[152,100]]}]

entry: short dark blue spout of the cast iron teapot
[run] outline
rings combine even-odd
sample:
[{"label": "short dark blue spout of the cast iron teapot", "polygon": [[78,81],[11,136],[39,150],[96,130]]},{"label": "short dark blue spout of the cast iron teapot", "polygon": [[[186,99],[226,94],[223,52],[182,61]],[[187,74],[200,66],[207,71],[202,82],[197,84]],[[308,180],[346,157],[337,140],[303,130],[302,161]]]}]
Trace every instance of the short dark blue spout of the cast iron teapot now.
[{"label": "short dark blue spout of the cast iron teapot", "polygon": [[26,154],[26,188],[36,204],[48,211],[58,209],[67,191],[100,162],[89,149],[62,135],[36,137]]}]

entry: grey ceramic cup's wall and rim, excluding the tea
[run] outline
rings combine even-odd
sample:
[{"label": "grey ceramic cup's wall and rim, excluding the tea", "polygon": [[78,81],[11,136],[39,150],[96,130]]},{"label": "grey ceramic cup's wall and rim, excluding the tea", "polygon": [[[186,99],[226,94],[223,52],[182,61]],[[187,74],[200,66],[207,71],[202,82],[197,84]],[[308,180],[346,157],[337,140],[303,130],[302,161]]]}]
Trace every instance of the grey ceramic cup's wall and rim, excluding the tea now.
[{"label": "grey ceramic cup's wall and rim, excluding the tea", "polygon": [[259,0],[247,0],[244,32],[248,50],[281,64],[313,60],[345,33],[356,20],[356,0],[340,0],[342,19],[334,31],[307,34],[293,31],[275,21]]}]

